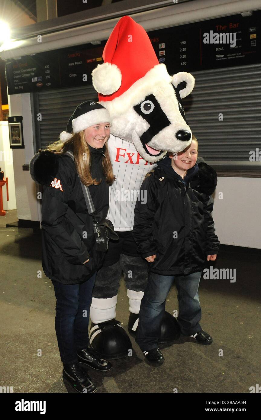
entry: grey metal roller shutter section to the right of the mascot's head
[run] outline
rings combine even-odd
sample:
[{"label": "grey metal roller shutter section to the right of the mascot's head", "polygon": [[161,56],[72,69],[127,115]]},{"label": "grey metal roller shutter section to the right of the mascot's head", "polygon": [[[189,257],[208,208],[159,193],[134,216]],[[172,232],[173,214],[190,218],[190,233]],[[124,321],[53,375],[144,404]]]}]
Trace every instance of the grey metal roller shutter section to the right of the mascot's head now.
[{"label": "grey metal roller shutter section to the right of the mascot's head", "polygon": [[261,64],[191,74],[195,87],[183,105],[200,155],[219,165],[251,164],[250,150],[261,146]]}]

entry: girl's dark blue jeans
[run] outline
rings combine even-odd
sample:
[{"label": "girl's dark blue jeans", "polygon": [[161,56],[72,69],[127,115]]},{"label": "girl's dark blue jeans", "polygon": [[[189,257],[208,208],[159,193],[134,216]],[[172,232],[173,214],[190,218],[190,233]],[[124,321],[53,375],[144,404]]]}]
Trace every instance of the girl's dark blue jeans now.
[{"label": "girl's dark blue jeans", "polygon": [[77,349],[89,344],[91,294],[96,273],[81,284],[52,281],[56,297],[55,332],[63,363],[77,362]]}]

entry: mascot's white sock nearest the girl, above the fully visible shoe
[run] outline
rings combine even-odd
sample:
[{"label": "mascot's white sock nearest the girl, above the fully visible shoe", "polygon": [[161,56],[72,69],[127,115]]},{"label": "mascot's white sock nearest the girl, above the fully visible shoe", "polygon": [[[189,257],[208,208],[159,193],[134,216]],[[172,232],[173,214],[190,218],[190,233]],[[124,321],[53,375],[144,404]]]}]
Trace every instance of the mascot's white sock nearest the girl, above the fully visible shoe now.
[{"label": "mascot's white sock nearest the girl, above the fully visible shoe", "polygon": [[107,299],[98,299],[97,297],[92,298],[90,307],[90,318],[94,324],[99,322],[109,321],[112,318],[116,318],[116,304],[117,294]]}]

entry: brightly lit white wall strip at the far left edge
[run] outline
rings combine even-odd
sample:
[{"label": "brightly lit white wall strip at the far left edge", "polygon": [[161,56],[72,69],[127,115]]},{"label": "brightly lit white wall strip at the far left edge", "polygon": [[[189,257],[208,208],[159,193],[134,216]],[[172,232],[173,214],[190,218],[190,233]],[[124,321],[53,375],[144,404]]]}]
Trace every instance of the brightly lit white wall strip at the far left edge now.
[{"label": "brightly lit white wall strip at the far left edge", "polygon": [[8,121],[0,121],[0,168],[8,178],[9,201],[6,199],[6,186],[3,186],[3,209],[16,209],[15,180],[13,173],[13,152],[10,149]]}]

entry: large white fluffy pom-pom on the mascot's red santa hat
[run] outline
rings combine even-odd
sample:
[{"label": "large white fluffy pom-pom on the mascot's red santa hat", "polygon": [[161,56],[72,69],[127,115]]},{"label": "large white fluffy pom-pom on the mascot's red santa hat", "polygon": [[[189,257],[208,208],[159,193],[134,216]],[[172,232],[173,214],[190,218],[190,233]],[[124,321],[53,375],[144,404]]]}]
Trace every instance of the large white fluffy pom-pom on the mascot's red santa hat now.
[{"label": "large white fluffy pom-pom on the mascot's red santa hat", "polygon": [[121,71],[116,64],[98,64],[91,76],[94,89],[102,95],[111,95],[121,86]]}]

